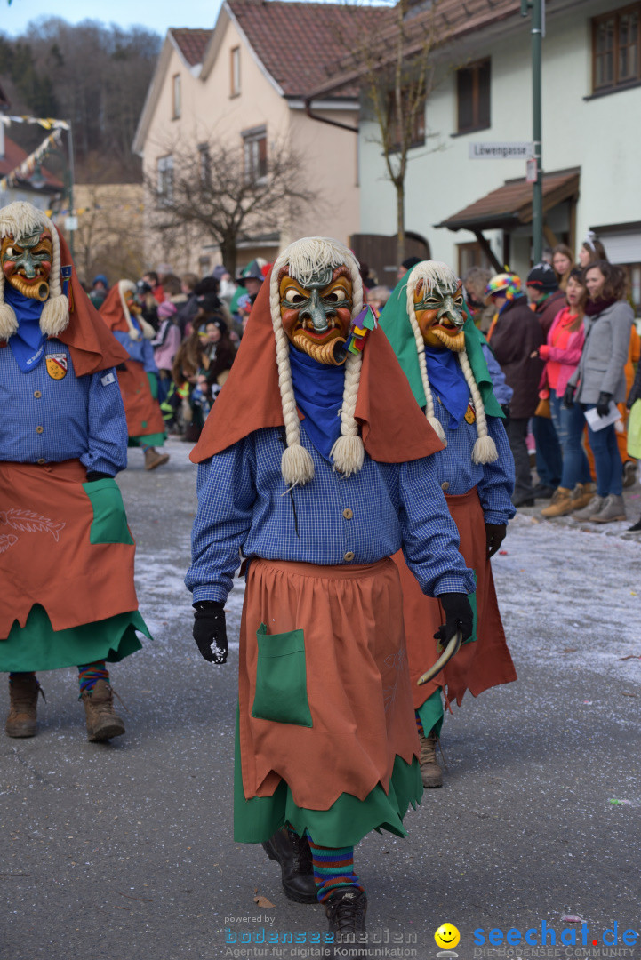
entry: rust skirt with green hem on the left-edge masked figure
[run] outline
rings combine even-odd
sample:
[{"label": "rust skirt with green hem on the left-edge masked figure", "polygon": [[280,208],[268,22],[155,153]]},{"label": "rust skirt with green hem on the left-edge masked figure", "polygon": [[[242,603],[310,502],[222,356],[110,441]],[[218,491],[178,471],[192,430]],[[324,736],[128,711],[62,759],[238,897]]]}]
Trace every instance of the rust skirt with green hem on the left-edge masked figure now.
[{"label": "rust skirt with green hem on the left-edge masked figure", "polygon": [[[86,483],[78,460],[0,463],[0,670],[120,660],[139,649],[135,630],[147,628],[136,612],[134,553],[114,480]],[[87,625],[95,629],[74,633]]]}]

